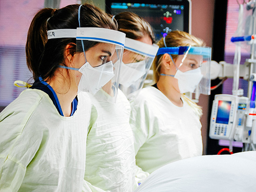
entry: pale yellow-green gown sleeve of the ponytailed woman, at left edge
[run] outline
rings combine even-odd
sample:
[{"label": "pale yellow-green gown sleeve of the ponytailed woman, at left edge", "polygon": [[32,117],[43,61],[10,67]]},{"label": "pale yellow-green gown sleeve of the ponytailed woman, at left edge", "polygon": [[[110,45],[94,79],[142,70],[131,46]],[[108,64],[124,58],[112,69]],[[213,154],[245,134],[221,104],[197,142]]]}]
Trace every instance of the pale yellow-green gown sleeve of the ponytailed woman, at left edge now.
[{"label": "pale yellow-green gown sleeve of the ponytailed woman, at left edge", "polygon": [[40,148],[43,133],[27,122],[37,104],[27,110],[9,105],[0,113],[0,192],[17,192],[28,164]]}]

